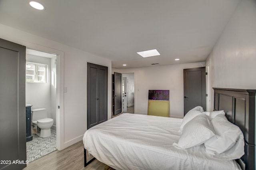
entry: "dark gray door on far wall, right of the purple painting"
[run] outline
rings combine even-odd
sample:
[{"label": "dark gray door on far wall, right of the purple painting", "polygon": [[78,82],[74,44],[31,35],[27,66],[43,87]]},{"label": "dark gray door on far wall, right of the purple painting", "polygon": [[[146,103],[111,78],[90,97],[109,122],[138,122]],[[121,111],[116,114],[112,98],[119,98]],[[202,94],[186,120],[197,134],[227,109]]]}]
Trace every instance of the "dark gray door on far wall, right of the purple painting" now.
[{"label": "dark gray door on far wall, right of the purple painting", "polygon": [[205,67],[184,69],[184,116],[190,109],[202,106],[206,111]]}]

